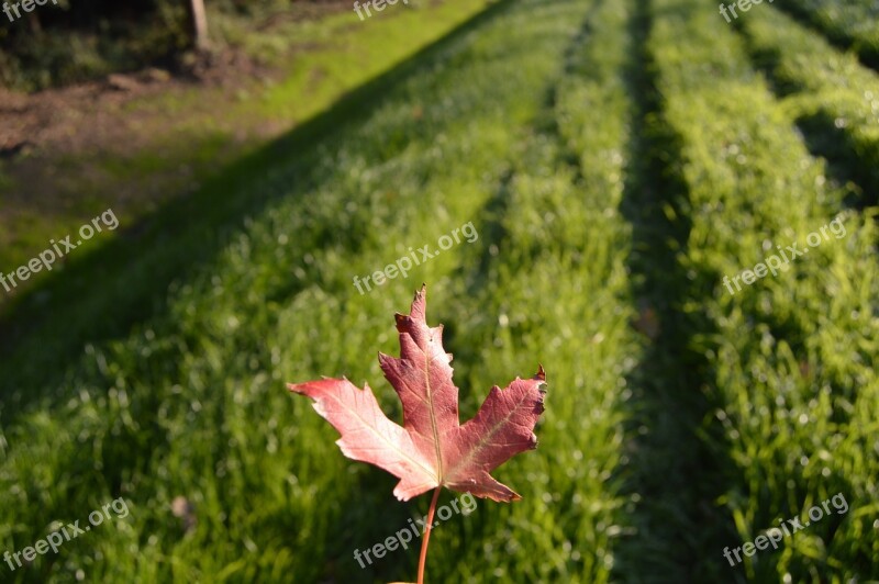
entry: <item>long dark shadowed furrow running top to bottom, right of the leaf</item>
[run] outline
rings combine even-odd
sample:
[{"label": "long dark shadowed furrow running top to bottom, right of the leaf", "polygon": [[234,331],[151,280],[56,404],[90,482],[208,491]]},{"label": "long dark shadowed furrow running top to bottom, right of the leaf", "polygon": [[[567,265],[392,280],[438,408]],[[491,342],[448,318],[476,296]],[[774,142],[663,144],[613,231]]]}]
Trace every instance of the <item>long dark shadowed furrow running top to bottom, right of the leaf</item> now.
[{"label": "long dark shadowed furrow running top to bottom, right of the leaf", "polygon": [[710,424],[720,404],[697,347],[699,336],[715,330],[685,308],[713,287],[704,274],[688,274],[680,259],[691,229],[689,195],[680,175],[681,138],[664,121],[646,44],[653,18],[641,1],[630,24],[636,50],[627,77],[636,104],[621,210],[633,228],[628,268],[638,328],[649,341],[628,379],[633,438],[622,470],[624,493],[639,497],[632,514],[636,535],[617,544],[615,565],[628,581],[724,582],[734,573],[722,565],[721,551],[735,541],[735,530],[715,501],[728,484],[731,463],[722,433]]}]

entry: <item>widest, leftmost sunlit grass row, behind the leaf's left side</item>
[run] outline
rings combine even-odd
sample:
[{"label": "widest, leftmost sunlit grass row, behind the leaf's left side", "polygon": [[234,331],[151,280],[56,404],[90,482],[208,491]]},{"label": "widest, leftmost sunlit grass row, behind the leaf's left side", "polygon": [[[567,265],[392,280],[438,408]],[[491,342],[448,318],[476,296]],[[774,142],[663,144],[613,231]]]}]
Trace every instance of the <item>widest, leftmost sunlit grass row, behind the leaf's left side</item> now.
[{"label": "widest, leftmost sunlit grass row, behind the leaf's left side", "polygon": [[[124,339],[84,347],[62,382],[40,388],[51,398],[9,413],[0,435],[3,549],[30,546],[53,521],[82,519],[118,496],[131,517],[4,579],[65,582],[80,571],[131,582],[411,579],[414,553],[360,570],[353,552],[405,526],[426,502],[397,503],[392,478],[345,460],[335,431],[283,383],[368,380],[399,419],[376,361],[377,350],[399,350],[392,315],[426,281],[431,321],[467,329],[452,274],[481,244],[461,244],[365,295],[353,278],[410,247],[436,250],[439,236],[479,215],[588,7],[523,0],[496,8],[491,21],[370,103],[365,120],[243,187],[274,200],[173,285],[160,314]],[[453,334],[449,350],[466,353],[457,348]],[[459,367],[500,373],[497,359]],[[528,355],[491,382],[533,374],[538,359]],[[501,476],[527,497],[543,496],[513,480],[514,465]],[[171,514],[177,496],[194,509],[188,529]],[[480,529],[502,529],[490,519]],[[437,537],[434,552],[461,553],[464,535],[452,539],[444,546]],[[531,562],[526,543],[520,561]],[[469,569],[488,579],[494,566],[475,559]]]}]

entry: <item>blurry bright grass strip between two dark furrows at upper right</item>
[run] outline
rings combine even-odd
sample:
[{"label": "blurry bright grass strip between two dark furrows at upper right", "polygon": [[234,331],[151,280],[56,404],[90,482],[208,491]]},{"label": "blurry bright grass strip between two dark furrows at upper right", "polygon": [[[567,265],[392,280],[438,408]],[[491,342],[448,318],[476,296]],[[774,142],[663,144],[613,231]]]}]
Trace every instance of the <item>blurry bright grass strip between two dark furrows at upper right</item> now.
[{"label": "blurry bright grass strip between two dark furrows at upper right", "polygon": [[879,76],[778,10],[755,11],[737,24],[758,63],[789,96],[793,115],[823,136],[821,154],[839,159],[849,180],[857,182],[861,192],[854,202],[876,205]]}]

